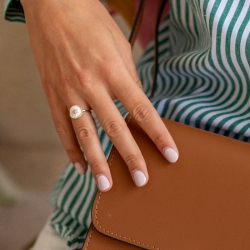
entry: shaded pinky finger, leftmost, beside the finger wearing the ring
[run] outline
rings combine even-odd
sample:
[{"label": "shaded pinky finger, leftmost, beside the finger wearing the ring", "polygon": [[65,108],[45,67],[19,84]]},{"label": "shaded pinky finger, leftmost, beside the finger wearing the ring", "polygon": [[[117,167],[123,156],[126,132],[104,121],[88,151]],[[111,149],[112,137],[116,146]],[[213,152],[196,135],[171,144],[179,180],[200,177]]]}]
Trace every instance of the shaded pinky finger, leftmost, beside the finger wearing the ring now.
[{"label": "shaded pinky finger, leftmost, beside the finger wearing the ring", "polygon": [[[58,110],[58,107],[60,107],[60,110]],[[74,164],[79,174],[84,174],[88,167],[76,138],[67,106],[60,100],[57,100],[50,102],[50,109],[57,134],[61,139],[70,161]]]}]

